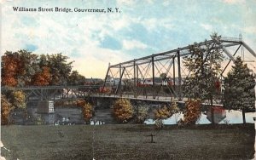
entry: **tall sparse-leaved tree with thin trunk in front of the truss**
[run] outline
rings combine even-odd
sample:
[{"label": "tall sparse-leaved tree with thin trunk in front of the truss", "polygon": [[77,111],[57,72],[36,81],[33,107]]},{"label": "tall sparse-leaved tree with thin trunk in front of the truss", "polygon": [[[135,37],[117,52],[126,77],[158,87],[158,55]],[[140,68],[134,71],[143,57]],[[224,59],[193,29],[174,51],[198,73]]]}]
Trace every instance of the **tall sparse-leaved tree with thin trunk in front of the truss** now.
[{"label": "tall sparse-leaved tree with thin trunk in front of the truss", "polygon": [[195,43],[189,47],[190,54],[184,57],[183,64],[188,68],[191,76],[185,79],[183,93],[189,99],[209,100],[211,102],[212,123],[213,99],[218,97],[219,89],[216,83],[219,82],[221,73],[221,62],[224,59],[222,49],[219,49],[220,36],[213,33],[213,43],[205,43],[204,47]]}]

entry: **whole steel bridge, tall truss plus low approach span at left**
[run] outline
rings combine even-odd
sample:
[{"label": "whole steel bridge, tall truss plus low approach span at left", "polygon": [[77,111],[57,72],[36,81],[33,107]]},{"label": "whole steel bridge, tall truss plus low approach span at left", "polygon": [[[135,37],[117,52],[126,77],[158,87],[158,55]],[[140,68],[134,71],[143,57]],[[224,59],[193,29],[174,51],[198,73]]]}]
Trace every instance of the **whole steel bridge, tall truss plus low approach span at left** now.
[{"label": "whole steel bridge, tall truss plus low approach span at left", "polygon": [[[224,77],[230,66],[241,56],[248,67],[256,60],[256,54],[241,38],[221,37],[198,43],[201,48],[210,46],[220,49],[224,55],[222,71]],[[2,87],[2,91],[23,90],[26,100],[67,100],[91,97],[128,98],[131,100],[170,101],[186,100],[181,86],[189,71],[183,66],[183,57],[190,54],[190,45],[139,59],[108,66],[102,85],[46,86],[46,87]],[[210,54],[210,53],[204,53]],[[254,72],[255,66],[253,66]],[[160,75],[165,73],[163,80]],[[215,100],[214,103],[220,103]]]}]

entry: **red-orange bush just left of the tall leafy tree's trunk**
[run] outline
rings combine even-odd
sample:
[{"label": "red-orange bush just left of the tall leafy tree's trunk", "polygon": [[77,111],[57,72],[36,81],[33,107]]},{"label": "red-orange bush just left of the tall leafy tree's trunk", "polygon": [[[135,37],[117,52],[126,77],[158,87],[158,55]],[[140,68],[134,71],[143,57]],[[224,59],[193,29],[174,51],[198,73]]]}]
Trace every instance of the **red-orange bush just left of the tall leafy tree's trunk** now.
[{"label": "red-orange bush just left of the tall leafy tree's trunk", "polygon": [[185,107],[184,123],[195,124],[201,117],[201,100],[187,100]]}]

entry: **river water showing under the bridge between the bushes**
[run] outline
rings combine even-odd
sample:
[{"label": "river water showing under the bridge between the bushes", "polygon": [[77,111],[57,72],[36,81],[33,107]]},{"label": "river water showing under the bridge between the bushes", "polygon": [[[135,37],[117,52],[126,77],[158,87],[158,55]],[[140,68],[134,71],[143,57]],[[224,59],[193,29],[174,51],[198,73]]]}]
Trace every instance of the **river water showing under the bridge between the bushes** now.
[{"label": "river water showing under the bridge between the bushes", "polygon": [[[241,111],[226,111],[226,117],[219,123],[242,123]],[[254,123],[253,117],[256,117],[255,112],[246,113],[246,122]],[[164,120],[165,124],[177,124],[177,121],[183,118],[183,113],[179,112],[172,117]],[[54,125],[72,125],[72,124],[84,124],[84,117],[82,115],[81,108],[79,107],[55,107],[55,112],[50,114],[40,114],[37,111],[37,107],[27,107],[26,115],[20,111],[15,111],[12,116],[12,121],[15,124],[54,124]],[[96,110],[96,117],[92,119],[90,125],[101,124],[114,124],[117,123],[113,116],[111,109]],[[145,121],[146,124],[154,124],[153,119]],[[207,119],[207,114],[201,113],[201,118],[197,124],[209,124],[211,123]]]}]

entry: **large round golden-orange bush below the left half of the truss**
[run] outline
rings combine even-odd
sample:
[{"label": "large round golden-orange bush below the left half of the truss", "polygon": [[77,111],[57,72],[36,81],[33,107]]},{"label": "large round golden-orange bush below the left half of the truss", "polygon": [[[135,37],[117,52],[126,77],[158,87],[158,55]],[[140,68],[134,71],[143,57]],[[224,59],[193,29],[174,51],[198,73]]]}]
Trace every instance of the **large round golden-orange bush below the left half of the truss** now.
[{"label": "large round golden-orange bush below the left half of the truss", "polygon": [[113,103],[113,115],[120,123],[127,123],[133,117],[133,108],[130,100],[115,100]]}]

